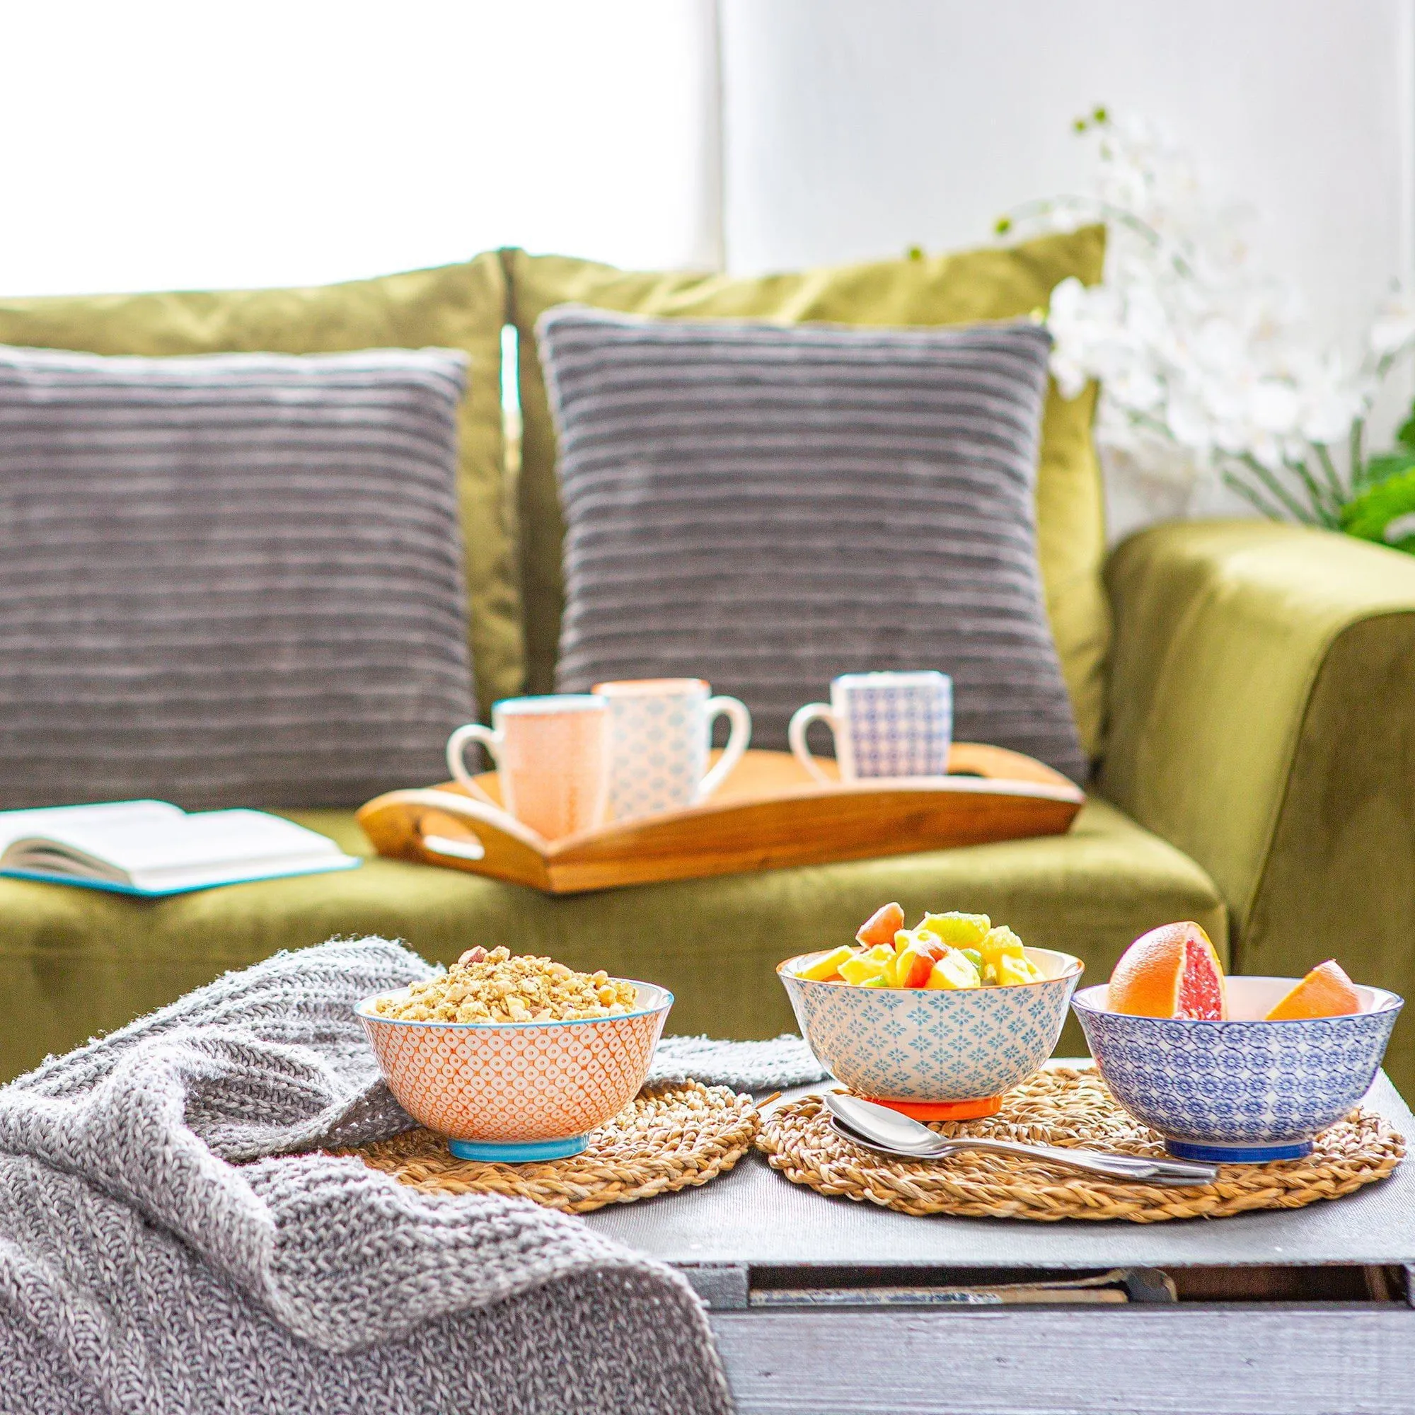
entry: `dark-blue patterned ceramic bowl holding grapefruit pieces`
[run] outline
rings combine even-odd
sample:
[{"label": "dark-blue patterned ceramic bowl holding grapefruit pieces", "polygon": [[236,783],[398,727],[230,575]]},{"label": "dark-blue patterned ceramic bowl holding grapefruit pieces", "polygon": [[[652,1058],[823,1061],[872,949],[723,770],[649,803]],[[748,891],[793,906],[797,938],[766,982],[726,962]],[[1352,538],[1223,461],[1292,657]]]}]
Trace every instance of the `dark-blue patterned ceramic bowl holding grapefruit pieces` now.
[{"label": "dark-blue patterned ceramic bowl holding grapefruit pieces", "polygon": [[1296,981],[1230,978],[1228,1022],[1111,1012],[1104,983],[1071,1005],[1111,1094],[1172,1155],[1261,1165],[1300,1159],[1365,1095],[1402,1006],[1358,988],[1367,1010],[1348,1017],[1258,1020]]}]

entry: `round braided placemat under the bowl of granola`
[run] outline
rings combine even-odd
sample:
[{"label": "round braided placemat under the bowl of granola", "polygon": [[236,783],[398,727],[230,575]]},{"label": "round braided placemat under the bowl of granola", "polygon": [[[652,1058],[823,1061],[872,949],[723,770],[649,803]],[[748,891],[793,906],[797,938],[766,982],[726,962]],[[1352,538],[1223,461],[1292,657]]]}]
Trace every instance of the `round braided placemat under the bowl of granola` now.
[{"label": "round braided placemat under the bowl of granola", "polygon": [[706,1184],[741,1159],[757,1133],[750,1095],[724,1085],[645,1087],[570,1159],[498,1165],[456,1159],[432,1131],[342,1150],[403,1184],[443,1194],[508,1194],[546,1208],[587,1214],[689,1184]]}]

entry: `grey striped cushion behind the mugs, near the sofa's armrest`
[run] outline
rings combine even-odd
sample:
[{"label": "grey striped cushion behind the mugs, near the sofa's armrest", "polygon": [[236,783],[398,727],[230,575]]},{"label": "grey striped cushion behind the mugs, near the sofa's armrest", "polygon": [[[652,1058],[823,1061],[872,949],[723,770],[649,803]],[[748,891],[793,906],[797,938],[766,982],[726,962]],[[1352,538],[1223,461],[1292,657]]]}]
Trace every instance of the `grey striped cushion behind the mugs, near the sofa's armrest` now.
[{"label": "grey striped cushion behind the mugs, near the sofa's armrest", "polygon": [[753,741],[836,674],[937,668],[958,740],[1081,780],[1037,566],[1049,335],[651,320],[538,327],[560,437],[558,685],[698,675]]}]

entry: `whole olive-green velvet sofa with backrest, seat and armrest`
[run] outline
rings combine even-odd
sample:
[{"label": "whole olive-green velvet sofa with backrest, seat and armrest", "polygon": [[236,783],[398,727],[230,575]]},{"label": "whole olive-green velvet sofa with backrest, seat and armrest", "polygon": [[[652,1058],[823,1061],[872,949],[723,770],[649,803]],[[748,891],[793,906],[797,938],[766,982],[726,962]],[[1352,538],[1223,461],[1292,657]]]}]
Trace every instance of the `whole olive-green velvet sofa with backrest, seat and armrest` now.
[{"label": "whole olive-green velvet sofa with backrest, seat and armrest", "polygon": [[[488,703],[528,683],[543,691],[553,664],[553,433],[528,338],[546,303],[944,323],[1026,313],[1064,273],[1095,279],[1101,249],[1080,232],[1013,253],[763,282],[502,252],[323,291],[0,301],[0,342],[467,348],[470,633]],[[504,323],[522,334],[519,466],[497,417]],[[1097,981],[1139,932],[1194,918],[1234,971],[1293,974],[1336,955],[1358,981],[1404,990],[1415,975],[1415,560],[1262,522],[1166,525],[1107,556],[1092,406],[1091,395],[1049,403],[1039,485],[1049,610],[1099,763],[1070,833],[546,897],[372,856],[351,804],[291,812],[369,857],[348,873],[161,901],[0,880],[0,1078],[228,968],[335,934],[400,937],[443,961],[478,942],[552,952],[668,985],[672,1030],[770,1036],[791,1026],[773,966],[849,938],[890,899],[908,913],[985,910],[1029,942],[1080,954]],[[1078,1034],[1063,1047],[1080,1049]],[[1397,1030],[1388,1064],[1415,1087],[1415,1024]]]}]

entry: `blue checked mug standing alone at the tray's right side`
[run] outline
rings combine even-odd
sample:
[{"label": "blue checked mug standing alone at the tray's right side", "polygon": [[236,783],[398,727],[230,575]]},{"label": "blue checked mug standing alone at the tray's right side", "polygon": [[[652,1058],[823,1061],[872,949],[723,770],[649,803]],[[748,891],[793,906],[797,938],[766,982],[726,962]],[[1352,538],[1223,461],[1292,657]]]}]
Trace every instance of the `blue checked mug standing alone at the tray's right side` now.
[{"label": "blue checked mug standing alone at the tray's right side", "polygon": [[832,679],[831,702],[798,708],[787,729],[797,761],[816,780],[829,781],[805,741],[807,727],[816,720],[835,734],[842,781],[941,777],[954,737],[954,681],[932,669]]}]

